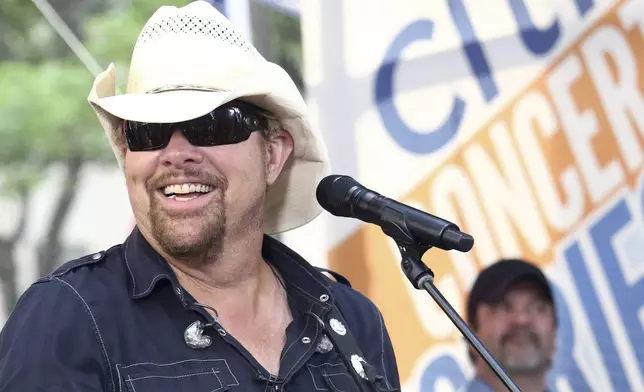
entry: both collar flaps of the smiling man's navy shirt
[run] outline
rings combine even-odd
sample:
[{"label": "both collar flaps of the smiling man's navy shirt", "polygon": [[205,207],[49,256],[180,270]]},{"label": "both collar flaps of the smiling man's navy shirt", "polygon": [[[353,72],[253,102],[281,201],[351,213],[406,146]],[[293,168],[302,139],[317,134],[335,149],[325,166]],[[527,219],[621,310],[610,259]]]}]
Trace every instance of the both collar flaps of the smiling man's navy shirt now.
[{"label": "both collar flaps of the smiling man's navy shirt", "polygon": [[[137,227],[124,243],[124,258],[129,272],[128,285],[132,298],[144,298],[163,282],[175,290],[180,285],[167,261],[143,237]],[[329,281],[300,255],[280,241],[265,235],[262,256],[286,282],[309,301],[326,308],[333,304]]]}]

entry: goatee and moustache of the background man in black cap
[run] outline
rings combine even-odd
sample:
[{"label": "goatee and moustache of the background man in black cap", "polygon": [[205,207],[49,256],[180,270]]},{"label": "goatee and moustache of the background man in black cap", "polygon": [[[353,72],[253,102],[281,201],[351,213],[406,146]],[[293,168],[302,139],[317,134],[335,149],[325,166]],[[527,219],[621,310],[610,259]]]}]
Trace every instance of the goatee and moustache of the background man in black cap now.
[{"label": "goatee and moustache of the background man in black cap", "polygon": [[[508,340],[522,336],[532,347],[521,353],[511,351],[506,347]],[[544,371],[550,363],[546,350],[539,336],[528,328],[515,328],[501,336],[499,340],[499,362],[512,374],[533,374]]]}]

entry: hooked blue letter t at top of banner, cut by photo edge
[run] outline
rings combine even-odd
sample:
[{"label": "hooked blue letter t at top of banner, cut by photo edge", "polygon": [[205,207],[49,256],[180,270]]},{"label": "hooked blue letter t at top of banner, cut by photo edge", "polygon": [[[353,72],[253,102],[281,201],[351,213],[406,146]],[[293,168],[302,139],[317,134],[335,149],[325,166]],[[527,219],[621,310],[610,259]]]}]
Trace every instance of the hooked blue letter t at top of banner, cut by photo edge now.
[{"label": "hooked blue letter t at top of banner, cut by photo edge", "polygon": [[519,24],[521,40],[532,53],[543,55],[552,49],[561,34],[557,18],[555,18],[550,27],[540,30],[532,22],[524,0],[510,0],[510,8],[512,8],[514,18]]}]

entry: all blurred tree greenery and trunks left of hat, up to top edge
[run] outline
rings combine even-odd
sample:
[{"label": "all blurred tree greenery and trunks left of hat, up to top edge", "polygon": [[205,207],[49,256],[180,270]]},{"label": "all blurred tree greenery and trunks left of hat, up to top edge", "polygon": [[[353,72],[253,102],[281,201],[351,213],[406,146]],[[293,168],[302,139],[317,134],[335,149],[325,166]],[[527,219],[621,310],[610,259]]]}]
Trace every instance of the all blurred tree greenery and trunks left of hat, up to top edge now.
[{"label": "all blurred tree greenery and trunks left of hat, up to top edge", "polygon": [[[174,1],[185,5],[189,0]],[[129,5],[101,0],[56,0],[51,4],[99,63],[114,61],[125,75],[139,30],[163,0]],[[106,8],[110,6],[111,8]],[[0,237],[0,281],[4,307],[13,308],[15,249],[30,215],[30,197],[52,166],[64,168],[52,218],[38,246],[44,275],[61,260],[61,231],[73,206],[80,174],[89,163],[115,164],[96,115],[87,103],[93,75],[26,0],[0,3],[0,190],[18,201],[20,219]],[[124,90],[124,78],[120,78]]]}]

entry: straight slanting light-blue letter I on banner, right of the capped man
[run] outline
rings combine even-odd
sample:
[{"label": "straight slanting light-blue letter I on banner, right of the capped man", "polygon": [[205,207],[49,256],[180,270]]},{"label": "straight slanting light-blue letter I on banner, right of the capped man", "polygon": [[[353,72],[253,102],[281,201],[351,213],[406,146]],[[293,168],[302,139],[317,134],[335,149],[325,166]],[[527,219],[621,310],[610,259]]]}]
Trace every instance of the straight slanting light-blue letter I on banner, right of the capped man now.
[{"label": "straight slanting light-blue letter I on banner, right of the capped man", "polygon": [[599,304],[597,293],[592,286],[592,280],[586,268],[581,250],[579,249],[579,244],[574,243],[568,247],[565,254],[570,272],[575,277],[579,297],[582,300],[584,310],[590,321],[590,328],[593,331],[595,339],[597,339],[599,351],[605,359],[604,363],[610,363],[612,365],[610,366],[611,371],[609,372],[609,377],[613,384],[613,389],[620,390],[618,386],[628,385],[626,375],[624,374],[622,366],[615,366],[620,362],[617,349],[615,348],[615,342],[610,333],[608,333],[610,329],[608,328],[606,317]]}]

